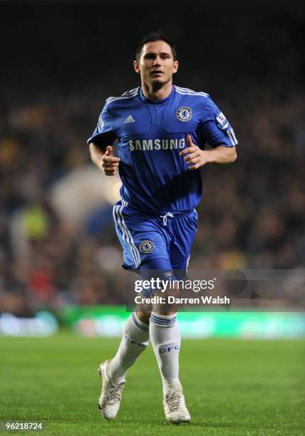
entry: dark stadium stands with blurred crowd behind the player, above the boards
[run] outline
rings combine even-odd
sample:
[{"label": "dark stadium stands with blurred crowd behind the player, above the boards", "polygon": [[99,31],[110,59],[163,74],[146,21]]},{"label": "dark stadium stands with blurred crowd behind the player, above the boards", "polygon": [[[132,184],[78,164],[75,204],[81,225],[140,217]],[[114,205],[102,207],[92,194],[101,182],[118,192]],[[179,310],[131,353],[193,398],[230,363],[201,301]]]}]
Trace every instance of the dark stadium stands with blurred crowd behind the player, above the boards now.
[{"label": "dark stadium stands with blurred crowd behind the player, above the boards", "polygon": [[109,95],[138,85],[139,38],[175,41],[175,83],[205,90],[239,139],[205,167],[191,268],[303,268],[301,1],[1,3],[0,307],[30,315],[124,303],[111,207],[119,182],[86,139]]}]

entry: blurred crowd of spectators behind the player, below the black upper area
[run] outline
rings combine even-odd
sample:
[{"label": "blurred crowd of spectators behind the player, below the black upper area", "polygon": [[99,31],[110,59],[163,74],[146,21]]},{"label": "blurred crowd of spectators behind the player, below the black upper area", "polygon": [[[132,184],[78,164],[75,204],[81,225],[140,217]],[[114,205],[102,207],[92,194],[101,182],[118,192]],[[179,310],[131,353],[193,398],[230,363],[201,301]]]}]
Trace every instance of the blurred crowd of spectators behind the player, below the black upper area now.
[{"label": "blurred crowd of spectators behind the player, below the black upper area", "polygon": [[[281,95],[255,83],[236,91],[234,100],[217,103],[234,126],[239,157],[234,165],[202,170],[204,195],[189,267],[304,268],[304,95],[299,89]],[[107,97],[100,85],[64,95],[50,89],[4,94],[0,311],[24,315],[70,304],[124,303],[128,273],[120,267],[109,199],[101,195],[100,204],[73,219],[61,213],[52,194],[68,175],[93,170],[86,139]],[[108,190],[98,177],[100,192]],[[56,192],[61,187],[66,189],[59,183]],[[88,190],[90,185],[80,194],[80,210]],[[63,198],[68,204],[69,190]]]}]

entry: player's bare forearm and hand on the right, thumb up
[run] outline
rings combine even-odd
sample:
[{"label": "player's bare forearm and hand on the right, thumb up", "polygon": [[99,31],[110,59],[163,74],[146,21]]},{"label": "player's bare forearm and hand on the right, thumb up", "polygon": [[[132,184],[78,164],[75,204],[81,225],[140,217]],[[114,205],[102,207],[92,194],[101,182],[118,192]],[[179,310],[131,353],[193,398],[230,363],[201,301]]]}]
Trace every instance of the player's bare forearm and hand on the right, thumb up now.
[{"label": "player's bare forearm and hand on the right, thumb up", "polygon": [[187,135],[187,145],[185,150],[180,152],[180,156],[185,155],[187,165],[190,170],[197,170],[207,163],[227,165],[237,160],[237,152],[235,147],[224,147],[219,145],[213,150],[201,150],[200,147],[192,142],[192,137]]}]

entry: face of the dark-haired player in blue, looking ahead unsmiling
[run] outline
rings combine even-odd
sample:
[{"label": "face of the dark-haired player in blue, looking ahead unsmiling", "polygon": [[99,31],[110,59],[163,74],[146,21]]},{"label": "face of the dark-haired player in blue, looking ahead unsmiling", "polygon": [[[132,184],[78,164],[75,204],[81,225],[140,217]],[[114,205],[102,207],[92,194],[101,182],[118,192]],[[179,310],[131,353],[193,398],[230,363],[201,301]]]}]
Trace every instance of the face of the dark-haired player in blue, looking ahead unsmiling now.
[{"label": "face of the dark-haired player in blue, looking ahead unsmiling", "polygon": [[178,61],[172,57],[172,48],[165,41],[154,41],[143,46],[139,61],[134,61],[135,71],[148,85],[162,85],[172,81]]}]

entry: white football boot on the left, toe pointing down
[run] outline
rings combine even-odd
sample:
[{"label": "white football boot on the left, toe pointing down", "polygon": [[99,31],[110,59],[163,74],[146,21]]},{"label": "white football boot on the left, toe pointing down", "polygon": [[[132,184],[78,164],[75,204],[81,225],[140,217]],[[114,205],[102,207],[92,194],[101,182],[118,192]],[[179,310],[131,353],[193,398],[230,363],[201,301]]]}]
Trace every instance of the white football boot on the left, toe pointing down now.
[{"label": "white football boot on the left, toe pointing down", "polygon": [[98,372],[103,379],[103,388],[100,398],[98,400],[98,408],[100,413],[106,420],[113,420],[120,408],[120,399],[122,398],[122,392],[125,387],[125,382],[114,384],[107,374],[107,368],[110,360],[100,364]]}]

